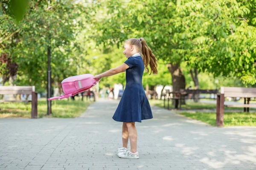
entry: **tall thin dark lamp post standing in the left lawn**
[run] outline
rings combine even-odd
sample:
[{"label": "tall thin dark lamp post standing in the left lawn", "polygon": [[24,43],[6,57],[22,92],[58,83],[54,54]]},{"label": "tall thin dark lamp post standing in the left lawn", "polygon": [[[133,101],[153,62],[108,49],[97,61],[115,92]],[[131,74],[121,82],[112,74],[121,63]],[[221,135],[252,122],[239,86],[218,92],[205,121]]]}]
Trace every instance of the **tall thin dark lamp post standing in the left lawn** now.
[{"label": "tall thin dark lamp post standing in the left lawn", "polygon": [[[48,8],[50,7],[51,0],[48,0]],[[50,20],[48,21],[48,28],[50,28]],[[51,37],[49,33],[48,44],[48,71],[47,71],[47,98],[51,98]],[[47,115],[52,113],[52,101],[47,100]]]}]

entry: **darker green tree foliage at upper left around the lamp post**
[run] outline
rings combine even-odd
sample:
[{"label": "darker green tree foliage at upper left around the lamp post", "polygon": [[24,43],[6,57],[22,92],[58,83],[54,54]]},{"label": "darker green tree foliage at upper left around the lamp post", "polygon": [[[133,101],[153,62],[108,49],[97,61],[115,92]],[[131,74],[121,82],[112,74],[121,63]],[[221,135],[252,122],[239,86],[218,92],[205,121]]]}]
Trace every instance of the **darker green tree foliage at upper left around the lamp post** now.
[{"label": "darker green tree foliage at upper left around the lamp post", "polygon": [[76,0],[51,1],[49,5],[48,8],[47,1],[31,0],[29,11],[19,25],[7,14],[0,17],[1,53],[8,54],[18,65],[15,84],[35,85],[37,91],[46,88],[49,45],[54,82],[77,75],[86,62],[86,47],[81,47],[77,38],[84,38],[81,30],[84,18],[89,16],[84,17],[87,13],[83,11],[89,12],[90,7]]}]

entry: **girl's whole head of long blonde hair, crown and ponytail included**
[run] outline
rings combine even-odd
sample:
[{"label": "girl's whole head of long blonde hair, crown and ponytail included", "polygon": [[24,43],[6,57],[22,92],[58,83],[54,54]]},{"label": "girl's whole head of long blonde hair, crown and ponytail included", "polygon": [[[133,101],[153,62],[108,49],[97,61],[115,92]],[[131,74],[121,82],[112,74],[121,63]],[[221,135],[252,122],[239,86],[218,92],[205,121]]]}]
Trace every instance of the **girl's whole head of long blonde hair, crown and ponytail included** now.
[{"label": "girl's whole head of long blonde hair, crown and ponytail included", "polygon": [[[155,55],[152,53],[152,50],[148,47],[147,42],[144,40],[144,38],[131,38],[125,41],[125,43],[129,45],[134,45],[137,47],[137,50],[139,51],[140,55],[143,57],[143,62],[145,65],[145,69],[148,73],[148,64],[151,68],[150,74],[153,72],[153,74],[157,74],[157,59]],[[150,75],[149,74],[149,75]]]}]

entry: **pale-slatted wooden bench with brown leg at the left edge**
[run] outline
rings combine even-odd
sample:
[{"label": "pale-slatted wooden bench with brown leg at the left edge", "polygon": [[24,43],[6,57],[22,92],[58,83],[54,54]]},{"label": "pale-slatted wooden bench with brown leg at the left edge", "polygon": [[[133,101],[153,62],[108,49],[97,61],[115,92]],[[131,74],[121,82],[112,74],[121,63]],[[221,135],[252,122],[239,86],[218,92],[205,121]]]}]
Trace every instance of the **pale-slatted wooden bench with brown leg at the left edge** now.
[{"label": "pale-slatted wooden bench with brown leg at the left edge", "polygon": [[32,101],[28,100],[0,100],[0,102],[31,102],[31,118],[37,118],[37,92],[35,86],[0,86],[0,94],[32,94]]}]

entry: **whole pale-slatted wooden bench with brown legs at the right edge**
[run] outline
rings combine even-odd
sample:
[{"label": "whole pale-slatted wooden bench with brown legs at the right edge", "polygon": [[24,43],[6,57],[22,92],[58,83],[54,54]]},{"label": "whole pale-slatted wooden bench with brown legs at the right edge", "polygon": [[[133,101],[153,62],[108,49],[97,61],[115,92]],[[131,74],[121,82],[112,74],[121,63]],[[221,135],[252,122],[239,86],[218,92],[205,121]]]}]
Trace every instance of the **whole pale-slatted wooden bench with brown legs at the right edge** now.
[{"label": "whole pale-slatted wooden bench with brown legs at the right edge", "polygon": [[[244,105],[224,105],[225,97],[244,98]],[[256,108],[255,104],[250,104],[251,97],[256,97],[256,88],[221,87],[221,93],[217,94],[216,126],[223,127],[224,107],[244,108],[244,112],[249,112],[249,108]]]}]

